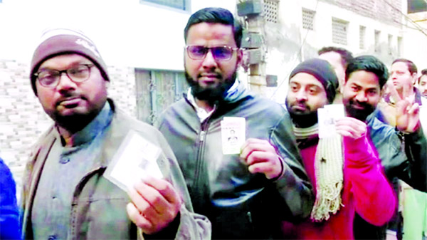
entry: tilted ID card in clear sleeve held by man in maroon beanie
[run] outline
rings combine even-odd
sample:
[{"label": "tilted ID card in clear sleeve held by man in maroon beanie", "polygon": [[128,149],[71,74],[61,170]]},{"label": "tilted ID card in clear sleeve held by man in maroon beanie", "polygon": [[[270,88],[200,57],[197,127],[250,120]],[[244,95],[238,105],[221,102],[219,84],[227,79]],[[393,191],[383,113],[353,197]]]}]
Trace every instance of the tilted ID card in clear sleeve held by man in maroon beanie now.
[{"label": "tilted ID card in clear sleeve held by man in maroon beanie", "polygon": [[144,176],[162,178],[157,158],[162,150],[134,130],[127,133],[104,177],[127,191]]}]

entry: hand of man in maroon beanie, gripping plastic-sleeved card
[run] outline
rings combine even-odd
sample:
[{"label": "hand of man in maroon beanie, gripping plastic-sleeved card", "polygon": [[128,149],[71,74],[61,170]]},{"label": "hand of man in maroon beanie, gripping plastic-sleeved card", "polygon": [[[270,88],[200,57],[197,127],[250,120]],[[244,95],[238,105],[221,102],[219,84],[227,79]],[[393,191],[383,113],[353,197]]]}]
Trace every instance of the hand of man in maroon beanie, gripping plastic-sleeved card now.
[{"label": "hand of man in maroon beanie, gripping plastic-sleeved card", "polygon": [[181,198],[164,179],[147,177],[128,191],[127,215],[144,234],[155,234],[174,221]]}]

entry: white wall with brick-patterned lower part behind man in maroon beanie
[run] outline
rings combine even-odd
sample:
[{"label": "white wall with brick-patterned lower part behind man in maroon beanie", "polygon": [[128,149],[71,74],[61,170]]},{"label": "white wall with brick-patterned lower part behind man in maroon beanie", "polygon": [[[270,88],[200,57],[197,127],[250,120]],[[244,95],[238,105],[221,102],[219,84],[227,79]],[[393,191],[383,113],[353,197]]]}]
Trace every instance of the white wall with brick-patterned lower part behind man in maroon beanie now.
[{"label": "white wall with brick-patterned lower part behind man in maroon beanie", "polygon": [[95,42],[119,108],[136,116],[135,68],[183,70],[184,26],[207,6],[234,12],[230,0],[192,0],[179,11],[139,0],[4,0],[0,3],[0,157],[21,187],[31,145],[52,121],[33,95],[29,63],[46,28],[78,28]]}]

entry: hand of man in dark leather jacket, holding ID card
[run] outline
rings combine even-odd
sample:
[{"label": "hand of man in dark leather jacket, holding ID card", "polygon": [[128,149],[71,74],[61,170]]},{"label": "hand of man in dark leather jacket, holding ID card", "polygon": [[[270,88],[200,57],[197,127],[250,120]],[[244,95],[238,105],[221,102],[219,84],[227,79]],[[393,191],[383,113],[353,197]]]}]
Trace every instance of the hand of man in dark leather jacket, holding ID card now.
[{"label": "hand of man in dark leather jacket, holding ID card", "polygon": [[249,138],[242,147],[240,157],[249,165],[249,172],[260,172],[268,179],[279,177],[282,164],[275,148],[266,140]]}]

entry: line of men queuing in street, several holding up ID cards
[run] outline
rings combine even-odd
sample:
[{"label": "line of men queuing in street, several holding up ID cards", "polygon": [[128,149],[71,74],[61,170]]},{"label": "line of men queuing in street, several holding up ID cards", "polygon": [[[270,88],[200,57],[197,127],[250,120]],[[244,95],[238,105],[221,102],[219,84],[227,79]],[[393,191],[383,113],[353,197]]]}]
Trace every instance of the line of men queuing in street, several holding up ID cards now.
[{"label": "line of men queuing in street, several holding up ID cards", "polygon": [[[401,182],[427,192],[427,70],[322,48],[290,73],[283,108],[236,78],[242,31],[226,9],[190,16],[190,88],[156,126],[108,97],[90,38],[43,33],[30,80],[54,123],[33,147],[20,205],[0,161],[1,239],[401,239]],[[131,158],[162,176],[112,181]]]}]

